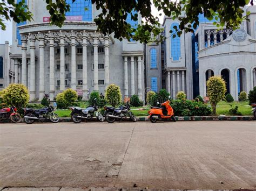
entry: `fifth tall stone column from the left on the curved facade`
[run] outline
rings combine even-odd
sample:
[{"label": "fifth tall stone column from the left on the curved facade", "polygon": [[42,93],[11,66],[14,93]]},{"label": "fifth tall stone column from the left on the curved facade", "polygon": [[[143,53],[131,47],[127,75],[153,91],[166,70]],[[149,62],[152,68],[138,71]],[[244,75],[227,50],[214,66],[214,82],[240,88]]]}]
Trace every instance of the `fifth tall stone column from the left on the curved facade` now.
[{"label": "fifth tall stone column from the left on the curved facade", "polygon": [[59,90],[64,91],[65,90],[65,31],[59,31],[58,32],[59,39],[60,39],[60,69],[59,69],[59,81],[60,86]]}]

